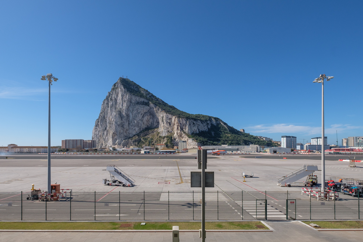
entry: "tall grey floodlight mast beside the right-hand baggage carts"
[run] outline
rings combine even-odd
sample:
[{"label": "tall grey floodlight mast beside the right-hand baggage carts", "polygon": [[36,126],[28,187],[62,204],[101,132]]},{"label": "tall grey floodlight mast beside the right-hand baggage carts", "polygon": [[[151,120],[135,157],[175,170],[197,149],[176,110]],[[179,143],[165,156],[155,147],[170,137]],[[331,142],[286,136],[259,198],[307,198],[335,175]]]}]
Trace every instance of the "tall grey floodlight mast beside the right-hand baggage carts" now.
[{"label": "tall grey floodlight mast beside the right-hand baggage carts", "polygon": [[[313,82],[321,83],[321,192],[325,192],[325,137],[324,137],[324,79],[330,81],[334,77],[327,77],[321,74]],[[317,143],[318,149],[318,143]]]}]

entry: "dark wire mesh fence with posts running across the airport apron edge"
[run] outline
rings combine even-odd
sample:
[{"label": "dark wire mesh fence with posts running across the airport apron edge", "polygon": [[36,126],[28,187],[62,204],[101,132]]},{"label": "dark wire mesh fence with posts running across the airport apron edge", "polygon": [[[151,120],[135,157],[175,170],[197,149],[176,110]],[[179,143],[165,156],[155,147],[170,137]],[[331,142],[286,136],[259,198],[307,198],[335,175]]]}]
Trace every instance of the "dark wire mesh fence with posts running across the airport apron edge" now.
[{"label": "dark wire mesh fence with posts running across the airport apron edge", "polygon": [[[200,221],[201,192],[67,193],[60,201],[0,193],[1,221]],[[361,219],[361,198],[302,192],[206,192],[207,221]]]}]

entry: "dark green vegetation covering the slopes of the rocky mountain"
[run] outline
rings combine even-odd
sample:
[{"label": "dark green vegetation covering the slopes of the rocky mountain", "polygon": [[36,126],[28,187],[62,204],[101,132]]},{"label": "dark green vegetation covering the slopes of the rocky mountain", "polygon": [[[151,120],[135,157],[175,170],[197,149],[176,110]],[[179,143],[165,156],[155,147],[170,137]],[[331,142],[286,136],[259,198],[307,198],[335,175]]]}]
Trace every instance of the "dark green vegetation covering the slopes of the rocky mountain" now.
[{"label": "dark green vegetation covering the slopes of the rocky mountain", "polygon": [[[212,125],[208,131],[202,131],[197,134],[188,135],[189,138],[196,140],[201,145],[249,145],[249,144],[257,144],[257,145],[265,145],[265,146],[276,146],[276,144],[271,141],[265,141],[257,138],[254,135],[249,135],[246,133],[242,133],[239,130],[229,126],[224,123],[221,119],[203,115],[203,114],[188,114],[187,112],[181,111],[178,108],[171,106],[164,102],[162,99],[156,97],[154,94],[150,93],[148,90],[143,89],[135,82],[126,78],[119,78],[118,82],[122,84],[125,89],[138,97],[147,99],[150,103],[155,104],[161,110],[167,112],[168,114],[177,116],[178,118],[185,119],[193,119],[193,120],[201,120],[201,121],[216,121],[216,125]],[[111,90],[116,88],[116,83],[113,85]],[[148,105],[146,102],[140,103],[142,105]],[[215,123],[215,122],[212,122]],[[132,138],[132,143],[138,145],[138,147],[143,147],[144,145],[155,145],[158,143],[164,143],[167,147],[172,148],[174,143],[172,140],[172,134],[167,136],[159,136],[159,132],[156,129],[153,130],[143,130],[137,135],[134,135]]]}]

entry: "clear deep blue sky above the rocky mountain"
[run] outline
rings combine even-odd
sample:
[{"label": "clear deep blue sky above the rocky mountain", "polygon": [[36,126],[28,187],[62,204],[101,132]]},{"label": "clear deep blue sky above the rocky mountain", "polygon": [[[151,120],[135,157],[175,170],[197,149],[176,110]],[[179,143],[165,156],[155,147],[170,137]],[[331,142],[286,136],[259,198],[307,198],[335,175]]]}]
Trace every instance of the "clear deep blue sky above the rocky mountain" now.
[{"label": "clear deep blue sky above the rocky mountain", "polygon": [[[253,135],[363,136],[362,1],[1,1],[0,146],[91,139],[122,75]],[[301,140],[299,140],[301,139]]]}]

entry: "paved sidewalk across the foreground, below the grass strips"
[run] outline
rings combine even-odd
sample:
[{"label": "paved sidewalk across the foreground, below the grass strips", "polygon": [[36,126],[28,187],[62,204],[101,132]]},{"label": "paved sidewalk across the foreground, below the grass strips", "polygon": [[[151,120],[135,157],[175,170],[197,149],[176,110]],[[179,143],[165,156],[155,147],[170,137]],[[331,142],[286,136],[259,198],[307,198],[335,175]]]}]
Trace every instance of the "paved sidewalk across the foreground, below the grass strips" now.
[{"label": "paved sidewalk across the foreground, below the grass strips", "polygon": [[[207,232],[207,242],[363,241],[363,231],[316,231],[294,222],[266,222],[274,232]],[[0,232],[0,242],[170,242],[171,232]],[[200,242],[198,232],[181,232],[180,242]]]}]

